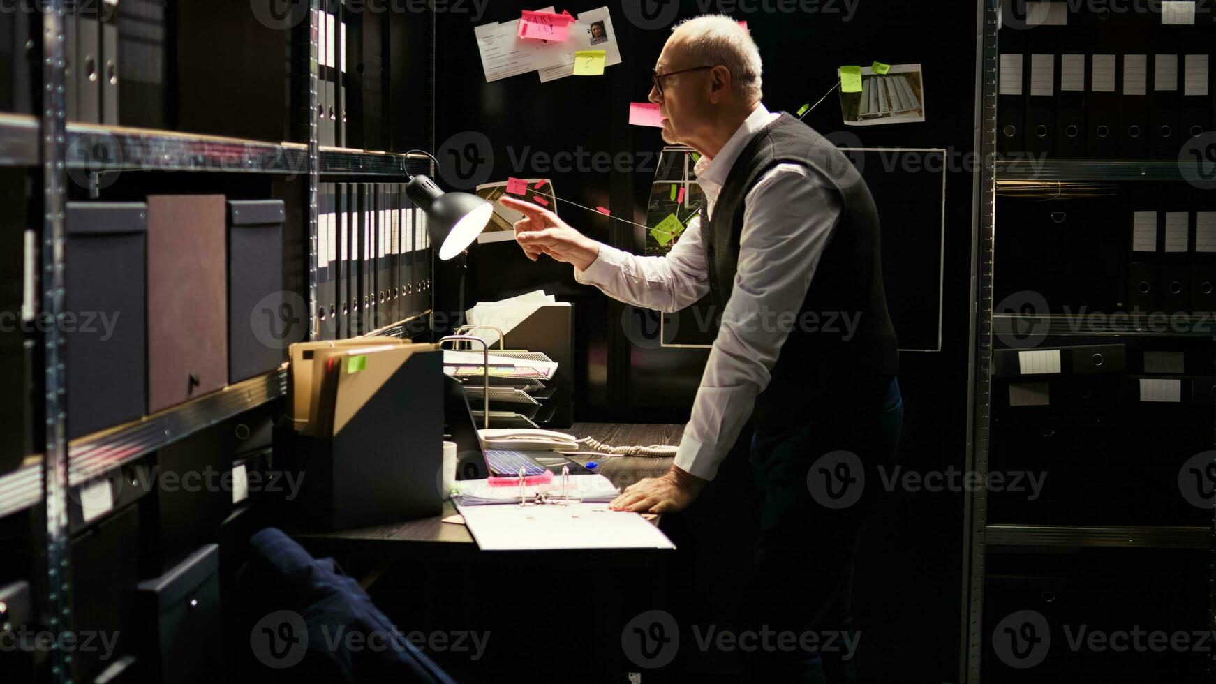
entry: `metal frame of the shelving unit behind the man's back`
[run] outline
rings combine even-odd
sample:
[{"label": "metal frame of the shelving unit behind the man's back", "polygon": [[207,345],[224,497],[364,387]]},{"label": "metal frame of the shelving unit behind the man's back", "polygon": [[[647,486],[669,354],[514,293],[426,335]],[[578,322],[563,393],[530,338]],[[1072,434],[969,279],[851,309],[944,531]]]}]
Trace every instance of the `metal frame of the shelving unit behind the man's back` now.
[{"label": "metal frame of the shelving unit behind the man's back", "polygon": [[[1136,182],[1201,179],[1198,163],[1178,159],[998,159],[996,153],[997,29],[1000,0],[981,0],[976,36],[976,134],[983,159],[975,175],[972,255],[970,383],[968,388],[967,469],[986,480],[990,457],[993,334],[1214,339],[1216,317],[1164,313],[993,315],[993,247],[997,183],[1007,181]],[[1214,435],[1216,437],[1216,435]],[[1214,439],[1216,443],[1216,439]],[[959,679],[981,680],[986,637],[984,590],[989,548],[1214,549],[1212,526],[1075,526],[989,522],[987,491],[964,496],[963,605]],[[1212,566],[1216,569],[1216,565]],[[1210,590],[1210,616],[1216,594]]]}]

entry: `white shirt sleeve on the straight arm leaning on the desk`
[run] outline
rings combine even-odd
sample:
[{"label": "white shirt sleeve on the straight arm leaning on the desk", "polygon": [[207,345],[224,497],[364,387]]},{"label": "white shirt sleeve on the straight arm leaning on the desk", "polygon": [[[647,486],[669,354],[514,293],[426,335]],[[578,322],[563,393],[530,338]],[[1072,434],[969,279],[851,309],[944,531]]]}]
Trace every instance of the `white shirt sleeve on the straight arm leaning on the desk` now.
[{"label": "white shirt sleeve on the straight arm leaning on the desk", "polygon": [[703,480],[717,474],[769,386],[841,213],[835,193],[794,164],[769,171],[745,202],[731,298],[675,458]]}]

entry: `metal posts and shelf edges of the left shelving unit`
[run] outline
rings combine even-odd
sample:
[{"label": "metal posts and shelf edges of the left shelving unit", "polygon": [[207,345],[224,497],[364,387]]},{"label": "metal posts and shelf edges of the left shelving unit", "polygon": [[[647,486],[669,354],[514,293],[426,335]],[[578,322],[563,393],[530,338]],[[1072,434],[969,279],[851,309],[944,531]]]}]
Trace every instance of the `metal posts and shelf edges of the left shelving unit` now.
[{"label": "metal posts and shelf edges of the left shelving unit", "polygon": [[[39,306],[54,321],[64,316],[64,204],[69,179],[95,179],[123,170],[271,174],[306,177],[309,236],[309,311],[316,310],[317,186],[321,175],[366,176],[404,181],[407,175],[434,173],[424,154],[321,148],[311,111],[317,102],[317,36],[320,0],[308,0],[308,142],[265,142],[126,126],[68,124],[64,111],[66,0],[45,0],[41,19],[41,94],[36,115],[0,114],[0,166],[40,169],[34,192],[41,198],[38,268]],[[434,30],[432,16],[432,33]],[[299,68],[304,69],[303,58]],[[303,85],[303,84],[302,84]],[[429,136],[430,131],[428,131]],[[428,147],[429,137],[418,147]],[[384,330],[404,332],[429,311]],[[35,406],[41,453],[11,473],[0,474],[0,518],[30,511],[40,538],[34,539],[39,566],[32,569],[41,609],[39,622],[51,632],[66,629],[72,607],[67,493],[73,485],[117,468],[165,445],[188,437],[221,420],[286,395],[286,367],[235,383],[184,405],[116,425],[68,443],[63,326],[50,326],[41,337],[40,400]],[[315,335],[315,321],[310,321]],[[39,505],[41,504],[41,505]],[[58,643],[56,640],[56,643]],[[68,682],[71,654],[55,649],[45,678]]]}]

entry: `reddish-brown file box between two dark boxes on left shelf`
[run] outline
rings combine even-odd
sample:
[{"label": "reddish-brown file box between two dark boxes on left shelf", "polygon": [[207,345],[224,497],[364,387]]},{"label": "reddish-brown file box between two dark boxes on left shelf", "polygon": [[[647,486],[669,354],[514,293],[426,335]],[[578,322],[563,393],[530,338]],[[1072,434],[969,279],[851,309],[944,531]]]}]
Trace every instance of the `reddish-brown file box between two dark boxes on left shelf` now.
[{"label": "reddish-brown file box between two dark boxes on left shelf", "polygon": [[226,205],[221,194],[150,196],[147,205],[148,411],[154,413],[225,384]]}]

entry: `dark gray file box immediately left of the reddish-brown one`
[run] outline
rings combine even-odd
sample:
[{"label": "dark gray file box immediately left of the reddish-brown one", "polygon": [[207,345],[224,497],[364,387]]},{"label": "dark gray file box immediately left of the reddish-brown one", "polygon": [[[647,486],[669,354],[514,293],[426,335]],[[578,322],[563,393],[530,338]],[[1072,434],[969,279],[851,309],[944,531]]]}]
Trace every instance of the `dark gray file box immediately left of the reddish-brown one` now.
[{"label": "dark gray file box immediately left of the reddish-brown one", "polygon": [[[64,332],[67,430],[74,439],[143,416],[145,251],[148,207],[140,202],[68,202],[64,310],[114,316]],[[223,241],[223,209],[220,215]],[[223,254],[223,242],[220,242]],[[219,272],[223,273],[223,266]],[[184,309],[175,309],[179,316]],[[223,322],[221,322],[223,324]],[[223,380],[221,380],[223,381]]]}]

